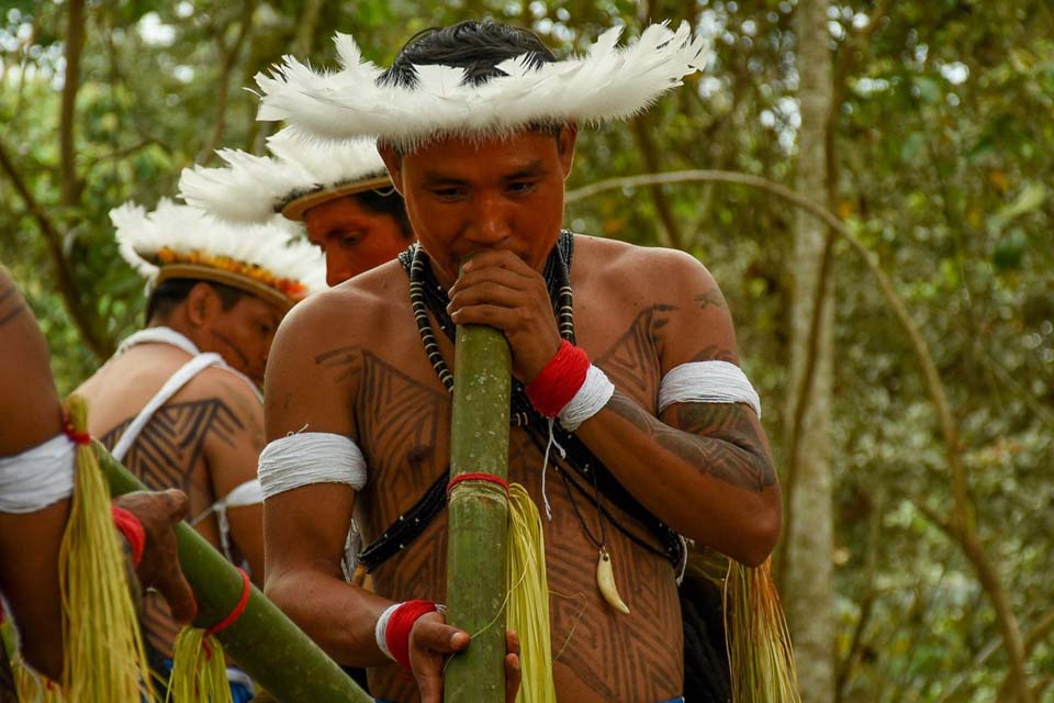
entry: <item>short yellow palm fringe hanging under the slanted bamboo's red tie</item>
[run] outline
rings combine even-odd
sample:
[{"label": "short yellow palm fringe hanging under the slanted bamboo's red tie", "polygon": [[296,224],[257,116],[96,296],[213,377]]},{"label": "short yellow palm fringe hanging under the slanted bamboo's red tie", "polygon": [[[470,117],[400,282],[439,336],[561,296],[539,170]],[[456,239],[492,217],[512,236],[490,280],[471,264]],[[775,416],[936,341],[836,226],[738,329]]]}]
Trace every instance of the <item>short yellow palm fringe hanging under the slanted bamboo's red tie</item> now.
[{"label": "short yellow palm fringe hanging under the slanted bamboo's red tie", "polygon": [[223,646],[200,627],[183,627],[172,648],[166,703],[233,703]]}]

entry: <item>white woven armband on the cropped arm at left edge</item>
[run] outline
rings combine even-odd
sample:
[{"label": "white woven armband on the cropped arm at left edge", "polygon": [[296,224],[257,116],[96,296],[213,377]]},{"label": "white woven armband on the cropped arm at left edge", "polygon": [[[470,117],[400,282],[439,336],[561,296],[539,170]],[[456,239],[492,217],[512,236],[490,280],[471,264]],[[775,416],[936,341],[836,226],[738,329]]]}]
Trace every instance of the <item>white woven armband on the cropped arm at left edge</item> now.
[{"label": "white woven armband on the cropped arm at left edge", "polygon": [[57,435],[0,458],[0,513],[32,513],[72,495],[76,451],[69,437]]}]

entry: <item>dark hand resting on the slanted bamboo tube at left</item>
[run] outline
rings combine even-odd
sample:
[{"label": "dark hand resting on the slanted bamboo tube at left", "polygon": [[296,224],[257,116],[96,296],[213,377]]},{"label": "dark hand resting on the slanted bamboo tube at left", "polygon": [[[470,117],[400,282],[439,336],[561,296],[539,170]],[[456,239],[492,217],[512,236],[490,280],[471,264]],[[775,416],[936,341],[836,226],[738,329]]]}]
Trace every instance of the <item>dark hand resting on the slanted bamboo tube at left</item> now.
[{"label": "dark hand resting on the slanted bamboo tube at left", "polygon": [[114,499],[113,504],[135,515],[146,533],[143,561],[136,569],[144,588],[155,588],[168,601],[172,618],[190,623],[198,614],[194,593],[179,568],[173,527],[187,516],[187,494],[176,489],[136,491]]}]

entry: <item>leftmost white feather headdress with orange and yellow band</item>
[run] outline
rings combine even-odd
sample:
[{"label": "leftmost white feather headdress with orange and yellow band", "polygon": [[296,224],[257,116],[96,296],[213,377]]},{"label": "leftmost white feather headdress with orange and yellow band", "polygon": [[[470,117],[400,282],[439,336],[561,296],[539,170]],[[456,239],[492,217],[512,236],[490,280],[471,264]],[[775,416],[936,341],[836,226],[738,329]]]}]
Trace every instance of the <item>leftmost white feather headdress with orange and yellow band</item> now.
[{"label": "leftmost white feather headdress with orange and yellow band", "polygon": [[152,284],[199,278],[234,286],[280,305],[325,288],[325,263],[276,217],[233,226],[161,199],[154,212],[126,202],[110,211],[121,256]]}]

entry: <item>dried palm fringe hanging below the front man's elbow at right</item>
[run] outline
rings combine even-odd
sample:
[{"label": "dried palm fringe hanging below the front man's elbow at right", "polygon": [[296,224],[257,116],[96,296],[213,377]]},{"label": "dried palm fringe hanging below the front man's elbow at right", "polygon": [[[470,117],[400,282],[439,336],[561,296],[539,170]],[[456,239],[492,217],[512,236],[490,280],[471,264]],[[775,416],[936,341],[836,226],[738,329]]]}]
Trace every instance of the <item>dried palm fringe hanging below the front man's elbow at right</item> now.
[{"label": "dried palm fringe hanging below the front man's elbow at right", "polygon": [[724,600],[732,701],[800,703],[790,632],[772,581],[772,561],[752,569],[729,559]]}]

